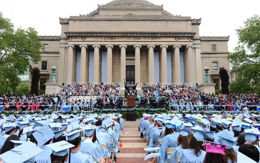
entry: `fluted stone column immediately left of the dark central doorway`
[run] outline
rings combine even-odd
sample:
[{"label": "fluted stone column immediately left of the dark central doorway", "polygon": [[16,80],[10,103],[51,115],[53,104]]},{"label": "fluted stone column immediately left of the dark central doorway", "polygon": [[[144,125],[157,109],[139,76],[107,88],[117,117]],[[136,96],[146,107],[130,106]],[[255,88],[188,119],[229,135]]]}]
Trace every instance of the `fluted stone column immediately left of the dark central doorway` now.
[{"label": "fluted stone column immediately left of the dark central doorway", "polygon": [[127,48],[127,45],[119,45],[119,48],[121,49],[121,61],[120,61],[120,93],[119,95],[125,95],[125,87],[124,87],[124,79],[125,79],[125,49]]}]

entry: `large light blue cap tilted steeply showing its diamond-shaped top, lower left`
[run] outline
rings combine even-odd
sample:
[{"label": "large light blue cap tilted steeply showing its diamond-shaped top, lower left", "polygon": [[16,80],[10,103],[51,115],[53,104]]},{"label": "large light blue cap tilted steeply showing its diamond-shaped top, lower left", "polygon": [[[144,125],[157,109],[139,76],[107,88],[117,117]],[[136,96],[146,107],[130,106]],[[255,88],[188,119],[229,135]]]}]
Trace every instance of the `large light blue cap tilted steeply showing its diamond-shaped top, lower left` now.
[{"label": "large light blue cap tilted steeply showing its diamond-shaped top, lower left", "polygon": [[36,139],[38,146],[44,145],[55,136],[47,124],[37,129],[32,135]]}]

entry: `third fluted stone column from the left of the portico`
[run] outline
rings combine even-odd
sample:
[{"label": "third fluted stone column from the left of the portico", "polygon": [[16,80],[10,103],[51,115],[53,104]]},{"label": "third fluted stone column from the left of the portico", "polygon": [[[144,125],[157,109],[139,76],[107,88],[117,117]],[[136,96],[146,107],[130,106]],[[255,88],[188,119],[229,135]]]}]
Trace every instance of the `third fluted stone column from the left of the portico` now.
[{"label": "third fluted stone column from the left of the portico", "polygon": [[94,48],[94,66],[93,66],[93,83],[99,83],[100,76],[100,63],[99,63],[99,49],[100,45],[92,45]]}]

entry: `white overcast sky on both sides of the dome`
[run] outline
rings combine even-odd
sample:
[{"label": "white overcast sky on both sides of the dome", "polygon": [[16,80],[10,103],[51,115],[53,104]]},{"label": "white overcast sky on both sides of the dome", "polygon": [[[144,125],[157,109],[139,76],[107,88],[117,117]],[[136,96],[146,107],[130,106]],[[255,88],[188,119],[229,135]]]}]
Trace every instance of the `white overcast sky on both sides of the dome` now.
[{"label": "white overcast sky on both sides of the dome", "polygon": [[[59,17],[69,18],[79,14],[88,14],[97,5],[112,0],[1,0],[0,11],[4,17],[11,19],[15,27],[33,27],[39,35],[60,35]],[[260,1],[218,0],[150,0],[156,5],[164,5],[164,9],[174,15],[202,18],[200,36],[228,36],[229,51],[237,45],[235,29],[243,26],[243,21],[254,14],[260,14]]]}]

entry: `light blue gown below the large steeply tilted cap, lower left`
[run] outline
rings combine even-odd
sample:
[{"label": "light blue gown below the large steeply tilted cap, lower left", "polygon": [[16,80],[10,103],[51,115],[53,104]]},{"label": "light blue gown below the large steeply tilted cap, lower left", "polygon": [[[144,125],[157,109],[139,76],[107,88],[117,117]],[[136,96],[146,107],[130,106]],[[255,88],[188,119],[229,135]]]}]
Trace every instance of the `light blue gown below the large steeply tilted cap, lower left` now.
[{"label": "light blue gown below the large steeply tilted cap, lower left", "polygon": [[43,145],[39,148],[42,149],[43,152],[35,156],[36,163],[51,163],[52,150],[46,147],[46,145]]}]

